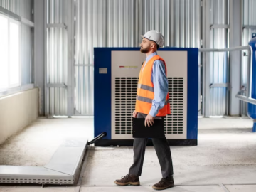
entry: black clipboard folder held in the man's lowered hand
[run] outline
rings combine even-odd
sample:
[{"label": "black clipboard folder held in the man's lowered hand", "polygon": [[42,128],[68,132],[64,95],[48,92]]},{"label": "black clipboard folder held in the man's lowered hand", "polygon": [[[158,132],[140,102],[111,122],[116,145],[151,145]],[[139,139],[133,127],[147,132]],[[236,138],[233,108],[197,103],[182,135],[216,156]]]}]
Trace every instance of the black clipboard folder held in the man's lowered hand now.
[{"label": "black clipboard folder held in the man's lowered hand", "polygon": [[145,118],[132,118],[132,137],[164,138],[164,117],[156,117],[154,124],[145,127]]}]

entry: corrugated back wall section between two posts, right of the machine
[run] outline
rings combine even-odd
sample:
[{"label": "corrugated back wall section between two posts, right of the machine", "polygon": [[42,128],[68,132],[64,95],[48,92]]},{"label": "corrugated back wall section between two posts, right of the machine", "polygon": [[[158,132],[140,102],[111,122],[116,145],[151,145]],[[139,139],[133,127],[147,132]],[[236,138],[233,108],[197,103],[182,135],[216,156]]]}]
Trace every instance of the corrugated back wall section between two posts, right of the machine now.
[{"label": "corrugated back wall section between two posts, right of the machine", "polygon": [[[229,0],[210,0],[210,25],[229,25]],[[229,45],[228,29],[210,30],[210,48],[227,48]],[[210,84],[228,83],[228,53],[210,53]],[[210,115],[227,114],[228,88],[210,88]]]}]

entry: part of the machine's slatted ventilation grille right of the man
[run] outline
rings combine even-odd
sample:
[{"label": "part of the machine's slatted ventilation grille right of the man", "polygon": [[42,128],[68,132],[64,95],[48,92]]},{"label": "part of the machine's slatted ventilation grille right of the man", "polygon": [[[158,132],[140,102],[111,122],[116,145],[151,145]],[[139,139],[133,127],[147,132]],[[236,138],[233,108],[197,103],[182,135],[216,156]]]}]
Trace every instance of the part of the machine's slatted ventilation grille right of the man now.
[{"label": "part of the machine's slatted ventilation grille right of the man", "polygon": [[165,134],[183,134],[183,78],[168,78],[171,114],[165,118]]}]

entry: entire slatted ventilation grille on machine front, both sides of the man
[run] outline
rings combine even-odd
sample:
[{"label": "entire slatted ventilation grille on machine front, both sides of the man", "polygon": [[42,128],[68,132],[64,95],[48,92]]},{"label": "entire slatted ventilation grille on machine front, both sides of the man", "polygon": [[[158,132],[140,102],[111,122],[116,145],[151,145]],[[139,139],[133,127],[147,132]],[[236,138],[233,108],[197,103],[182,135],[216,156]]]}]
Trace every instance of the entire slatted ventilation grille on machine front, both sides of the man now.
[{"label": "entire slatted ventilation grille on machine front, both sides of the man", "polygon": [[[115,134],[132,134],[138,78],[115,78]],[[168,78],[171,114],[165,134],[183,134],[183,78]]]}]

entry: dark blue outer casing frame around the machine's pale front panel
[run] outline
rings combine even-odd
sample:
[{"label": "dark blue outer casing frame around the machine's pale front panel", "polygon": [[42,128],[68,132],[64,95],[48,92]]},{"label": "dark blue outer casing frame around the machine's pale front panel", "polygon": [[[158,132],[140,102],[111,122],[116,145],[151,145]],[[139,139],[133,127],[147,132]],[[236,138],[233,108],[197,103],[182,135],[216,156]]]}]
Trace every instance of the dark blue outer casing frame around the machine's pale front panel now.
[{"label": "dark blue outer casing frame around the machine's pale front panel", "polygon": [[[111,52],[139,51],[140,48],[94,48],[94,126],[95,137],[106,132],[107,136],[95,146],[132,145],[133,141],[111,140]],[[198,138],[198,48],[161,48],[159,51],[186,51],[188,56],[188,100],[187,100],[187,139],[170,139],[171,145],[197,145]],[[168,63],[167,63],[168,65]],[[107,68],[100,74],[100,68]],[[125,140],[125,139],[124,139]],[[151,143],[149,142],[149,145]]]}]

